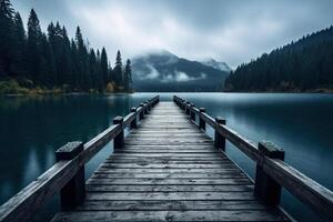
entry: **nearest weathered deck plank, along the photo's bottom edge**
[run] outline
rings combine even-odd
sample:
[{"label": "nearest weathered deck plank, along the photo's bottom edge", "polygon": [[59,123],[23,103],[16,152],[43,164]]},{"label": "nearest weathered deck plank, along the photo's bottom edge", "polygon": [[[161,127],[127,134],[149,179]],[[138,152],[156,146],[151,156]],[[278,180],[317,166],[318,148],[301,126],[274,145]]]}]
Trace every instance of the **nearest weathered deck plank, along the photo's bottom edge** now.
[{"label": "nearest weathered deck plank, along the photo's bottom edge", "polygon": [[77,211],[58,214],[58,221],[287,221],[278,210],[215,210],[215,211]]}]

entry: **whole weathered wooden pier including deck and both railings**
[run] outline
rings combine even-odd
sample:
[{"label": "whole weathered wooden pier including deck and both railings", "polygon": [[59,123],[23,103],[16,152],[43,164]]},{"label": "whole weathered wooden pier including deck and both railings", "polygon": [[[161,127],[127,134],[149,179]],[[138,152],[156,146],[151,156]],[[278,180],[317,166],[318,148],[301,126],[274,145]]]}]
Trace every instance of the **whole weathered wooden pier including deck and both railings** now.
[{"label": "whole weathered wooden pier including deck and both railings", "polygon": [[[333,219],[330,190],[284,163],[273,143],[256,147],[225,123],[178,97],[148,100],[85,144],[60,148],[59,162],[0,208],[0,221],[28,221],[58,191],[53,222],[292,221],[279,206],[282,186]],[[84,164],[112,139],[114,152],[85,181]],[[224,153],[226,140],[256,162],[254,182]]]}]

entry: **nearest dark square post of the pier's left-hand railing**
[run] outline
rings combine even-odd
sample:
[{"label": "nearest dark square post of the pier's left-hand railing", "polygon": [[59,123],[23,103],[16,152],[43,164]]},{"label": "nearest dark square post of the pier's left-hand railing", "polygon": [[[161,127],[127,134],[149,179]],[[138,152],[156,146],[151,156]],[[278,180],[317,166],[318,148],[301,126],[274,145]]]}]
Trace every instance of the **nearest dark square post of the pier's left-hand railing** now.
[{"label": "nearest dark square post of the pier's left-hand railing", "polygon": [[[69,142],[56,151],[57,161],[72,160],[83,151],[83,142]],[[63,211],[83,202],[85,196],[84,167],[61,189],[60,202]]]}]

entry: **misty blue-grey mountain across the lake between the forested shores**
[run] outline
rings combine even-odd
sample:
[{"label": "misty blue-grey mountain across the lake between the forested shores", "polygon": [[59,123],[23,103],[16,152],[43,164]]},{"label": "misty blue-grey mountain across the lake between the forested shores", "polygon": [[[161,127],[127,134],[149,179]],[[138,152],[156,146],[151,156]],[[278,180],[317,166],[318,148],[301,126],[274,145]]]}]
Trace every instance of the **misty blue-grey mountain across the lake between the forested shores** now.
[{"label": "misty blue-grey mountain across the lake between the forested shores", "polygon": [[135,91],[221,91],[229,74],[211,65],[179,58],[165,50],[133,58],[132,68]]}]

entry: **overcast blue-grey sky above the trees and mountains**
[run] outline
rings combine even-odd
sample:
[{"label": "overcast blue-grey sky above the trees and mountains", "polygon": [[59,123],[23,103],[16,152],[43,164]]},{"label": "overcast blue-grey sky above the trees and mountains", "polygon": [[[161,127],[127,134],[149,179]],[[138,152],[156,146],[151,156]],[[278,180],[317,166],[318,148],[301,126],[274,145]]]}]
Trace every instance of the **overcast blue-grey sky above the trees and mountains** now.
[{"label": "overcast blue-grey sky above the trees and mountains", "polygon": [[333,24],[333,0],[12,0],[27,22],[34,8],[43,30],[79,24],[91,47],[113,60],[165,49],[180,57],[214,58],[232,68]]}]

